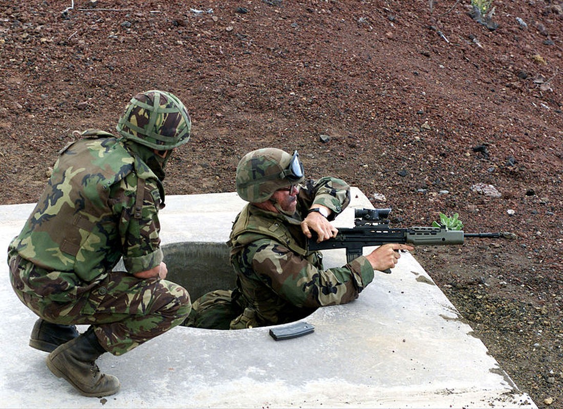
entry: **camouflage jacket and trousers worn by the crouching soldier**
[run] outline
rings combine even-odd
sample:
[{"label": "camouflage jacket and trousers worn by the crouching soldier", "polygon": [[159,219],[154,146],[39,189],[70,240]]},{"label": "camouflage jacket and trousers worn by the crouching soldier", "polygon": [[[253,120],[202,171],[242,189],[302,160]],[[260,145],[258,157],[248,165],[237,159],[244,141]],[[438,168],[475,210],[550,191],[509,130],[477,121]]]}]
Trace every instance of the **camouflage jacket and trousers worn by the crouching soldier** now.
[{"label": "camouflage jacket and trousers worn by the crouching soldier", "polygon": [[[39,317],[91,324],[102,347],[119,355],[184,321],[191,304],[179,285],[132,275],[163,259],[164,190],[139,153],[145,148],[133,152],[102,131],[84,135],[61,151],[11,242],[10,278]],[[112,272],[122,255],[127,272]]]}]

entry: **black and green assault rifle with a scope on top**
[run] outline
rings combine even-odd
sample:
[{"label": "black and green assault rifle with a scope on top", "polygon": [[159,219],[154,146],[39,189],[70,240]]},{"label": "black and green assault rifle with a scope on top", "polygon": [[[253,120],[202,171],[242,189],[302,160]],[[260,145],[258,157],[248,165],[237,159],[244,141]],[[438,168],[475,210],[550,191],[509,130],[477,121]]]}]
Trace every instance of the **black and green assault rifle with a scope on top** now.
[{"label": "black and green assault rifle with a scope on top", "polygon": [[[508,232],[499,233],[465,233],[463,230],[447,230],[440,227],[389,227],[389,213],[391,209],[355,209],[353,228],[339,228],[333,239],[316,242],[309,240],[309,250],[346,249],[346,262],[350,263],[362,255],[366,246],[381,246],[387,243],[410,243],[415,246],[463,244],[468,237],[482,239],[514,239],[515,235]],[[390,273],[390,270],[385,271]]]}]

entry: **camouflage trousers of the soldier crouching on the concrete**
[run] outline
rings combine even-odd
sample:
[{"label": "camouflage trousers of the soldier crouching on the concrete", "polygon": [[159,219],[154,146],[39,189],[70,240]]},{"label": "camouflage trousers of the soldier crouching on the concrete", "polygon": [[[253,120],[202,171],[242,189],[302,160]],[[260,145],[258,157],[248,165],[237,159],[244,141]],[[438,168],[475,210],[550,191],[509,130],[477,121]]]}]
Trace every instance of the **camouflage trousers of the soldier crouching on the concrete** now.
[{"label": "camouflage trousers of the soldier crouching on the concrete", "polygon": [[[80,291],[49,293],[53,275],[20,257],[8,260],[10,281],[18,298],[46,321],[64,325],[92,325],[100,345],[121,355],[181,324],[191,310],[190,295],[180,285],[157,278],[140,279],[123,271],[110,272],[100,282]],[[43,279],[34,291],[29,277]],[[56,300],[53,300],[56,298]]]}]

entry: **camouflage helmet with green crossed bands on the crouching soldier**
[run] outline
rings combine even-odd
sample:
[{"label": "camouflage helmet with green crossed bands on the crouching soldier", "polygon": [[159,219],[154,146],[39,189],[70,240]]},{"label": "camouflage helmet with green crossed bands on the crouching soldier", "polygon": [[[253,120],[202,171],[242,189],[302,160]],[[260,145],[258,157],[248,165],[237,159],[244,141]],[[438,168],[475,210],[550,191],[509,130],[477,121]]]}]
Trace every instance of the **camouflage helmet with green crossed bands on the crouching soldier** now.
[{"label": "camouflage helmet with green crossed bands on the crouching soldier", "polygon": [[191,120],[175,95],[152,90],[131,99],[115,128],[127,140],[166,151],[190,140]]}]

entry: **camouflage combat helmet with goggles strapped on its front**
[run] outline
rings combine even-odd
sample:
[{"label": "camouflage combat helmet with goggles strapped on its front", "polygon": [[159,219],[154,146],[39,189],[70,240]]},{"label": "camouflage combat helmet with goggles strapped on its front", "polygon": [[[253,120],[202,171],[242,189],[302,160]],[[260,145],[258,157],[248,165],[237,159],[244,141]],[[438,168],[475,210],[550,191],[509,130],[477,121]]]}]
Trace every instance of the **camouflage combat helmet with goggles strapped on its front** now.
[{"label": "camouflage combat helmet with goggles strapped on its front", "polygon": [[241,199],[261,203],[278,189],[305,179],[297,151],[293,155],[276,148],[258,149],[244,155],[236,167],[236,192]]}]

